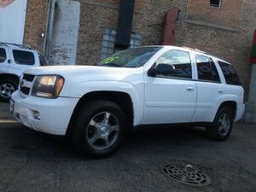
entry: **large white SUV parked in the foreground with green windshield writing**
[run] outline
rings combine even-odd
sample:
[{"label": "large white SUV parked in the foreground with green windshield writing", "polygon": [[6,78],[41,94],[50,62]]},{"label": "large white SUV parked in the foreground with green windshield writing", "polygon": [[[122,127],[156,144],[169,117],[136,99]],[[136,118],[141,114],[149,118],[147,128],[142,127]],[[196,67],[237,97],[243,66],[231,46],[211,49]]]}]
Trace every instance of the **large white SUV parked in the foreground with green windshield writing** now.
[{"label": "large white SUV parked in the foreground with green windshield writing", "polygon": [[23,125],[68,135],[81,154],[105,157],[139,125],[192,124],[215,140],[244,112],[230,63],[196,49],[126,49],[96,66],[26,70],[10,102]]}]

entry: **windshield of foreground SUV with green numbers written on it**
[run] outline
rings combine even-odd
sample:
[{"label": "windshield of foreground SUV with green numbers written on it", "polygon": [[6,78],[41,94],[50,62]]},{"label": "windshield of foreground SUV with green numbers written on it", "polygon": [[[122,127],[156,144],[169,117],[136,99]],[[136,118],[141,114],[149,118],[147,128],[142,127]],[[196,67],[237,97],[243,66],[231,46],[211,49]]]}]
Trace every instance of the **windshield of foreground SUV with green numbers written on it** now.
[{"label": "windshield of foreground SUV with green numbers written on it", "polygon": [[110,55],[96,66],[106,67],[142,67],[160,47],[141,47],[134,49],[125,49],[114,55]]}]

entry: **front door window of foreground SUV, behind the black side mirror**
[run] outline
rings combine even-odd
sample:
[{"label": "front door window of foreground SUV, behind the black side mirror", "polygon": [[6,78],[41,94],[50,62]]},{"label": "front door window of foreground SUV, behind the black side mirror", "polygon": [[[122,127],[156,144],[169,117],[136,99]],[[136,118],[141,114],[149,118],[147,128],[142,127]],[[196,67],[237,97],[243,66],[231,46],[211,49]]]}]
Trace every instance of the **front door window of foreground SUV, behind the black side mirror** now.
[{"label": "front door window of foreground SUV, behind the black side mirror", "polygon": [[192,79],[191,61],[188,52],[169,50],[160,56],[156,61],[156,66],[162,63],[175,67],[176,73],[168,75],[169,77]]}]

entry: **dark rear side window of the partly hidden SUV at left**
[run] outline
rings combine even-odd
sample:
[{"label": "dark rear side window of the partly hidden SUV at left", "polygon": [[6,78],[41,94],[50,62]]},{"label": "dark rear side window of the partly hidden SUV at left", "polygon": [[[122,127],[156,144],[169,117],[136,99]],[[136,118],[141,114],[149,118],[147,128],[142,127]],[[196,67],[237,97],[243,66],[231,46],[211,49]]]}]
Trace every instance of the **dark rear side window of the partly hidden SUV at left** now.
[{"label": "dark rear side window of the partly hidden SUV at left", "polygon": [[13,50],[15,63],[32,66],[35,64],[35,57],[32,52],[24,50]]}]

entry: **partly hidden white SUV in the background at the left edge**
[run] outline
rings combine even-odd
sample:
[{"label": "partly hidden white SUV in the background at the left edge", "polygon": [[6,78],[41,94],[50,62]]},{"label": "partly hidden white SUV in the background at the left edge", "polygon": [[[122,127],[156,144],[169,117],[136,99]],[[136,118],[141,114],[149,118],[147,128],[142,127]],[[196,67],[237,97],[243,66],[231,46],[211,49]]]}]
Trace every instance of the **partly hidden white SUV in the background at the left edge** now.
[{"label": "partly hidden white SUV in the background at the left edge", "polygon": [[20,76],[29,67],[48,66],[48,61],[25,45],[0,42],[0,101],[8,102],[18,89]]}]

